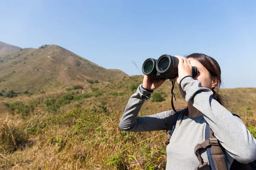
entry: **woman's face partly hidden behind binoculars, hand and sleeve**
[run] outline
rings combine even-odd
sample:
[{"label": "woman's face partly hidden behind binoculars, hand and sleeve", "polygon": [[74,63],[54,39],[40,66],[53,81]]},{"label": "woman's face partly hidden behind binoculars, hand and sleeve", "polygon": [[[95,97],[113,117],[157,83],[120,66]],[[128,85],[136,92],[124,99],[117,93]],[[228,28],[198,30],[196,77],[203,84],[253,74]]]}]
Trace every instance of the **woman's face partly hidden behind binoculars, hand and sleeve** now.
[{"label": "woman's face partly hidden behind binoculars, hand and sleeve", "polygon": [[[195,80],[200,81],[202,87],[212,89],[217,85],[218,83],[217,78],[211,79],[209,71],[204,67],[204,65],[201,64],[201,62],[198,62],[198,60],[194,58],[188,58],[188,60],[190,61],[190,64],[192,66],[195,66],[198,68],[198,74],[193,78]],[[180,86],[179,86],[179,90],[182,97],[185,99],[186,93],[180,88]]]}]

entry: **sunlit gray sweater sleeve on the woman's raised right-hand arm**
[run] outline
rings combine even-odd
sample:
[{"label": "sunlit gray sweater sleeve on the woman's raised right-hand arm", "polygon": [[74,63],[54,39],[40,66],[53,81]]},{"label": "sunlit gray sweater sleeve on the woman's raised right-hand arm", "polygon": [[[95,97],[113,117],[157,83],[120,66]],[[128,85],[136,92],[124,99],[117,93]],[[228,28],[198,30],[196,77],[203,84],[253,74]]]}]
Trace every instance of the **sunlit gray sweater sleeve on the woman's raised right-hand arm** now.
[{"label": "sunlit gray sweater sleeve on the woman's raised right-hand arm", "polygon": [[203,88],[200,81],[186,77],[180,85],[186,92],[186,102],[192,101],[193,106],[201,111],[227,153],[242,163],[254,161],[256,139],[247,130],[244,122],[213,99],[213,92],[209,88]]}]

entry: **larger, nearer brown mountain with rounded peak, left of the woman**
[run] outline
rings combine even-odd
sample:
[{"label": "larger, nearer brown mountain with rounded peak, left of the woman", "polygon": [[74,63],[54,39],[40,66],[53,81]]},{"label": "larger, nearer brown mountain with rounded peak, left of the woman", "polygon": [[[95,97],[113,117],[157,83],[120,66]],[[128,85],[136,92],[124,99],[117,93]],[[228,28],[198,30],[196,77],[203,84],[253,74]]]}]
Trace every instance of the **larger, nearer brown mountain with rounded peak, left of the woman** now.
[{"label": "larger, nearer brown mountain with rounded peak, left of the woman", "polygon": [[0,54],[0,90],[52,91],[85,85],[89,80],[112,81],[128,76],[106,69],[58,45],[23,48]]}]

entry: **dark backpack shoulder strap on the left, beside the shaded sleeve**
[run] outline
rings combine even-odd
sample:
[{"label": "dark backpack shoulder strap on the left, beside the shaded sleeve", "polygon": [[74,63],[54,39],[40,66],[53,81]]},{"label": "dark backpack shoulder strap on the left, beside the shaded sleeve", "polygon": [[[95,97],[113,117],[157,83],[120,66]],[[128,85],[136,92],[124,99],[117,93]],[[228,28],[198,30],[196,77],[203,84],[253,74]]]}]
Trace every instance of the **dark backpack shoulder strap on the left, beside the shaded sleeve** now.
[{"label": "dark backpack shoulder strap on the left, beside the shaded sleeve", "polygon": [[178,117],[185,110],[186,109],[177,110],[177,113],[175,111],[172,111],[171,115],[167,118],[167,129],[166,129],[167,140],[166,140],[166,145],[169,144],[169,141],[170,141],[170,139],[172,137],[172,133],[173,133],[173,131],[175,129],[175,125],[176,125]]}]

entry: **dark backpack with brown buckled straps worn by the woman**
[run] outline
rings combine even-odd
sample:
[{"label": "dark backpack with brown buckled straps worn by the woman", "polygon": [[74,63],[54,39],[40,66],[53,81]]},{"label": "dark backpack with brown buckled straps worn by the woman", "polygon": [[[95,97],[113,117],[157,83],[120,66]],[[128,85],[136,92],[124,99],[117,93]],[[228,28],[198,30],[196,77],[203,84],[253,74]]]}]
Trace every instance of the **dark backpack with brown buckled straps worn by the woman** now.
[{"label": "dark backpack with brown buckled straps worn by the woman", "polygon": [[[172,133],[175,130],[176,122],[178,117],[187,111],[186,109],[177,110],[178,112],[172,112],[171,115],[167,119],[167,141],[166,146],[169,144],[169,141],[172,137]],[[238,116],[235,113],[232,113],[233,116]],[[239,117],[239,116],[238,116]],[[239,117],[240,118],[240,117]],[[215,138],[214,133],[212,132],[209,124],[207,123],[206,130],[205,130],[205,141],[201,144],[197,144],[195,146],[195,156],[200,164],[195,167],[195,170],[198,168],[202,168],[208,165],[208,162],[203,162],[201,156],[199,154],[199,150],[206,149],[207,156],[209,159],[211,170],[227,170],[227,159],[223,152],[224,148],[221,146],[218,139]],[[233,163],[231,164],[230,170],[256,170],[256,160],[250,162],[248,164],[243,164],[234,159]]]}]

